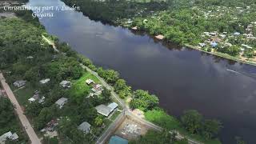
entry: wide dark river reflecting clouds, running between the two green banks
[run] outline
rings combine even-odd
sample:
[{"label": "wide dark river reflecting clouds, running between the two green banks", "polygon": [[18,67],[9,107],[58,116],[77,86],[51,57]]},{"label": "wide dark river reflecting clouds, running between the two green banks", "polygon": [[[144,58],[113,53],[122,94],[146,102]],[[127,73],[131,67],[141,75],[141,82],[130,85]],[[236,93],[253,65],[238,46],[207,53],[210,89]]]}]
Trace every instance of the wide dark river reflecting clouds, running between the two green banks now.
[{"label": "wide dark river reflecting clouds, running between the two green banks", "polygon": [[[30,0],[28,5],[65,6],[59,0]],[[53,18],[40,19],[50,34],[94,64],[118,70],[135,90],[158,95],[168,113],[178,117],[183,110],[198,110],[223,122],[223,143],[234,143],[235,136],[256,143],[255,66],[154,42],[146,34],[94,22],[81,12],[51,12]]]}]

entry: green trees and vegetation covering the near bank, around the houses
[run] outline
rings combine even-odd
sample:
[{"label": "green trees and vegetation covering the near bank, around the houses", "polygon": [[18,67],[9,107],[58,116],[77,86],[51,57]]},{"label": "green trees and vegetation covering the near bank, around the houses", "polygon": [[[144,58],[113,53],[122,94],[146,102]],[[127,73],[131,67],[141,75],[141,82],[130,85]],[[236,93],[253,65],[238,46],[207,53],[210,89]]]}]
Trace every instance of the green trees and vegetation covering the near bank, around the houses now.
[{"label": "green trees and vegetation covering the near bank, around the houses", "polygon": [[[30,11],[20,11],[17,16],[18,18],[2,18],[0,21],[0,34],[2,35],[0,38],[0,69],[3,70],[8,83],[20,79],[27,81],[26,87],[15,92],[15,95],[18,101],[22,102],[22,106],[25,106],[26,115],[31,119],[36,130],[41,130],[52,119],[61,118],[57,128],[61,141],[93,143],[95,136],[101,134],[102,128],[110,124],[109,119],[102,118],[94,109],[94,106],[111,102],[110,92],[105,90],[99,97],[86,98],[90,88],[84,87],[82,82],[86,78],[97,82],[97,78],[83,70],[80,66],[82,63],[98,72],[99,76],[114,86],[114,90],[121,98],[132,97],[130,107],[145,111],[146,119],[150,122],[165,127],[167,130],[178,130],[187,137],[202,142],[219,143],[217,138],[222,124],[218,120],[202,118],[196,110],[184,112],[181,118],[166,114],[158,107],[158,97],[145,90],[133,91],[130,86],[126,85],[125,80],[120,79],[118,72],[94,66],[88,58],[71,50],[66,43],[58,42],[58,38],[46,33],[38,19],[31,17]],[[61,53],[54,51],[42,35],[53,40]],[[50,83],[40,85],[38,82],[43,78],[50,78]],[[59,86],[62,80],[70,80],[74,85],[68,90],[62,89]],[[31,97],[35,90],[45,96],[46,101],[43,104],[27,102],[28,97]],[[62,110],[58,110],[54,102],[62,97],[69,98],[69,102]],[[83,134],[77,129],[77,126],[84,121],[92,124],[92,134]],[[152,136],[149,133],[149,136],[146,135],[145,138],[150,138],[150,135]],[[160,137],[162,133],[158,135]],[[45,141],[56,142],[58,139],[45,138]],[[148,141],[145,140],[145,142]]]}]

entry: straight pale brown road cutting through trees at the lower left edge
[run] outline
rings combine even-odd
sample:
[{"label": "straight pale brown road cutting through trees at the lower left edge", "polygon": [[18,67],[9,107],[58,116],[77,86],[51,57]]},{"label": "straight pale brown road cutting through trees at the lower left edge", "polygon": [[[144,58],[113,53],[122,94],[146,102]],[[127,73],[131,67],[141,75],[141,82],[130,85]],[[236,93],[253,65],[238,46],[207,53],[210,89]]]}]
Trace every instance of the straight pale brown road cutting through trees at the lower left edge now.
[{"label": "straight pale brown road cutting through trees at the lower left edge", "polygon": [[30,125],[29,120],[26,118],[26,115],[23,114],[22,107],[18,104],[18,101],[15,98],[14,93],[12,92],[12,90],[10,90],[10,86],[6,83],[6,79],[3,77],[2,73],[0,73],[0,80],[2,83],[2,88],[6,90],[7,97],[15,106],[14,110],[18,114],[18,118],[22,122],[22,126],[24,126],[25,128],[26,134],[30,138],[30,142],[32,144],[41,144],[38,135],[35,134],[34,129]]}]

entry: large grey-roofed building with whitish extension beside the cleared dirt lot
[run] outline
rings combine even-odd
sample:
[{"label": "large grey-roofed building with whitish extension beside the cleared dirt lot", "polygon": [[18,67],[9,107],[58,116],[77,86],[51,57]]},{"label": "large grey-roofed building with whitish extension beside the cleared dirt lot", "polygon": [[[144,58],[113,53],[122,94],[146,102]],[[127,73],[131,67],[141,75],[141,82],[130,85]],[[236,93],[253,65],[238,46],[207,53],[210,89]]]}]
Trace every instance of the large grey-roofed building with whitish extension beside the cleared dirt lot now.
[{"label": "large grey-roofed building with whitish extension beside the cleared dirt lot", "polygon": [[106,105],[99,105],[99,106],[95,107],[95,109],[97,110],[98,114],[102,114],[102,115],[104,115],[106,117],[108,117],[117,108],[118,108],[118,104],[115,103],[115,102],[110,103],[110,105],[108,105],[108,106],[106,106]]}]

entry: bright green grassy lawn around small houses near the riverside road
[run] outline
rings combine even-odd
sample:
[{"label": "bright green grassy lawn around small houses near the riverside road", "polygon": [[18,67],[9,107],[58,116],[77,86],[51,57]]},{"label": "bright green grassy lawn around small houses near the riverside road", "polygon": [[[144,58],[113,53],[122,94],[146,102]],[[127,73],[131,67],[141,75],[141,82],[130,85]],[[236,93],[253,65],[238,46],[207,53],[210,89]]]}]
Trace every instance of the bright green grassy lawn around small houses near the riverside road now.
[{"label": "bright green grassy lawn around small houses near the riverside road", "polygon": [[81,78],[72,82],[72,87],[70,89],[70,94],[74,97],[81,97],[84,94],[87,94],[90,91],[91,86],[86,84],[86,79],[92,79],[96,83],[100,83],[98,78],[96,78],[93,74],[86,72],[82,75]]}]

